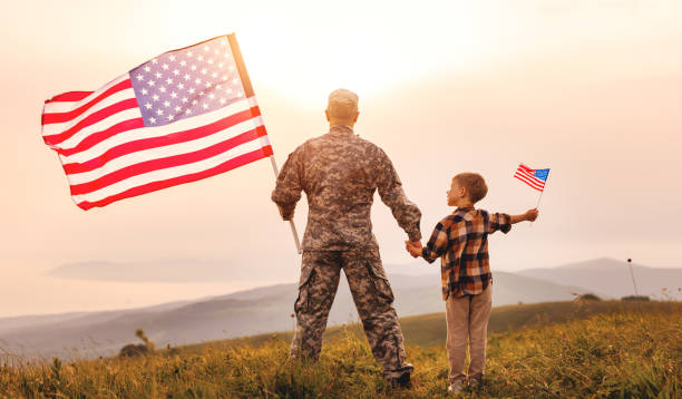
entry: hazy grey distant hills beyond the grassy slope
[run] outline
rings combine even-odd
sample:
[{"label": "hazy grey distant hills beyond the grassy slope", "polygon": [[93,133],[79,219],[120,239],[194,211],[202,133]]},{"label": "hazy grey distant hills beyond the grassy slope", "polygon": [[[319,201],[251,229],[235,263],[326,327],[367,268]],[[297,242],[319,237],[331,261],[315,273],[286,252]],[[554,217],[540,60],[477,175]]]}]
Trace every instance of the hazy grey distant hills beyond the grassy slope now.
[{"label": "hazy grey distant hills beyond the grassy slope", "polygon": [[[620,274],[623,269],[614,266],[615,263],[613,260],[595,260],[522,273],[494,272],[494,305],[566,301],[573,299],[574,293],[585,292],[618,296],[614,292],[621,292],[617,290],[621,290]],[[553,275],[549,271],[558,274]],[[588,272],[585,280],[567,278],[582,275],[583,271]],[[682,270],[666,270],[668,274],[659,271],[637,266],[635,276],[661,275],[663,280],[659,283],[653,276],[642,278],[643,282],[646,281],[643,288],[653,290],[656,284],[666,286],[674,281],[671,279],[682,275]],[[629,272],[625,276],[630,278]],[[389,280],[400,317],[444,311],[438,274],[392,274]],[[629,294],[627,285],[623,285],[623,292]],[[89,358],[115,354],[124,344],[136,341],[134,333],[138,328],[143,328],[159,347],[292,330],[294,320],[291,314],[296,294],[296,284],[279,284],[198,301],[125,311],[0,319],[0,357],[3,352],[25,357]],[[342,276],[329,323],[341,324],[357,318],[348,284]]]}]

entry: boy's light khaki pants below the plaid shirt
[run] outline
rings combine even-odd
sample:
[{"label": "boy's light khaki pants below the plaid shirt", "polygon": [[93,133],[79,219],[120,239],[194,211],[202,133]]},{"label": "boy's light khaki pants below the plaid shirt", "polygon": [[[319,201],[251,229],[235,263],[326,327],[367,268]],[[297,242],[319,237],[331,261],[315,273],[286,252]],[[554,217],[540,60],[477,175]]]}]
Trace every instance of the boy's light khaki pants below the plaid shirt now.
[{"label": "boy's light khaki pants below the plaid shirt", "polygon": [[448,322],[448,360],[450,361],[450,382],[464,382],[464,363],[469,338],[469,380],[481,380],[486,367],[486,335],[493,305],[493,284],[477,295],[448,298],[446,319]]}]

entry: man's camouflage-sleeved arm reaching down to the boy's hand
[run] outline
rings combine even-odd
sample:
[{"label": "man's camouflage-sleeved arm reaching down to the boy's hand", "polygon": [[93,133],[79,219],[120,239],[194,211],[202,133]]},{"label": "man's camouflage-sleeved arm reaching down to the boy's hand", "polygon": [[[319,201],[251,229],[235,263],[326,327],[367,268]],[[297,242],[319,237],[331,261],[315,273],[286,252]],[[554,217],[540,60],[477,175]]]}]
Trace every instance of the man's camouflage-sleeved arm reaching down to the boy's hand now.
[{"label": "man's camouflage-sleeved arm reaching down to the boy's hand", "polygon": [[418,242],[421,240],[419,230],[421,211],[405,195],[402,183],[388,155],[381,148],[377,147],[377,149],[379,150],[376,171],[379,196],[391,208],[398,225],[405,230],[410,241]]}]

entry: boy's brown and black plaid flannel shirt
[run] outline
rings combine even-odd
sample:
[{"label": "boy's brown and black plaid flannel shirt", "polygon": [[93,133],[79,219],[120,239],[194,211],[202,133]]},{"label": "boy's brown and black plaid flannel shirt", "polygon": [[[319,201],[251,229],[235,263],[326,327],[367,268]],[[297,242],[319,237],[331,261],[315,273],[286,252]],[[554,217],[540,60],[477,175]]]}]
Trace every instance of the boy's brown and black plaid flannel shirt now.
[{"label": "boy's brown and black plaid flannel shirt", "polygon": [[468,207],[455,210],[436,225],[421,255],[429,263],[440,256],[444,301],[479,294],[490,284],[488,234],[509,232],[510,222],[505,213]]}]

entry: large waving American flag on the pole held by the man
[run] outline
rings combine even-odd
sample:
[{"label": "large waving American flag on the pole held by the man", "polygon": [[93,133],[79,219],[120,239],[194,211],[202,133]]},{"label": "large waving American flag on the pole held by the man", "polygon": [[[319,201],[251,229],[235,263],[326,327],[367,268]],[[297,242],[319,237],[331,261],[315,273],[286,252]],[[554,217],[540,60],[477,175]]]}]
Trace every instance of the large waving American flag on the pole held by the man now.
[{"label": "large waving American flag on the pole held by the man", "polygon": [[52,97],[42,137],[82,210],[272,155],[234,35],[164,52],[95,91]]}]

